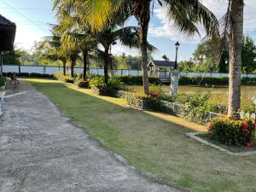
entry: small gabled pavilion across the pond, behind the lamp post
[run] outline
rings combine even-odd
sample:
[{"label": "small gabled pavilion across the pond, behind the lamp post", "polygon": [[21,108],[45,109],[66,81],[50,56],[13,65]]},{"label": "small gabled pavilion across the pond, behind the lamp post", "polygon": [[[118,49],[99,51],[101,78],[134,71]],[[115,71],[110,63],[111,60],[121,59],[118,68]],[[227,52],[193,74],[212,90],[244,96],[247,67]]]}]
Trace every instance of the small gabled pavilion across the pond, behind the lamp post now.
[{"label": "small gabled pavilion across the pond, behind the lamp post", "polygon": [[171,67],[175,66],[175,61],[157,61],[153,60],[148,63],[151,74],[156,74],[160,71],[170,71]]}]

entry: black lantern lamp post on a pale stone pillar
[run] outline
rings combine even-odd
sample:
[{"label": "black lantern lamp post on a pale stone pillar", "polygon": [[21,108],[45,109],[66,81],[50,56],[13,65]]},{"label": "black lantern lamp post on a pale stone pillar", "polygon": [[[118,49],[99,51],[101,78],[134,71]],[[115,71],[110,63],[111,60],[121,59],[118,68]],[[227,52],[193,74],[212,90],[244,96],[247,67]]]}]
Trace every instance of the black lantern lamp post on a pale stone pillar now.
[{"label": "black lantern lamp post on a pale stone pillar", "polygon": [[176,56],[175,56],[174,69],[171,72],[171,90],[170,90],[171,96],[177,95],[177,86],[178,86],[177,50],[179,48],[179,45],[180,44],[178,42],[175,44]]}]

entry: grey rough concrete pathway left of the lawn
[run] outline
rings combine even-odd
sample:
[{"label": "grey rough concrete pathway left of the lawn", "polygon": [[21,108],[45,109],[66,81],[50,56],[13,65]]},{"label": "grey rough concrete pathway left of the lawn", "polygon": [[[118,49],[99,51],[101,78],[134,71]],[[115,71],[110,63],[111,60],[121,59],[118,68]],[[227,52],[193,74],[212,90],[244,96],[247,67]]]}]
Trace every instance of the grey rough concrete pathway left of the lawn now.
[{"label": "grey rough concrete pathway left of the lawn", "polygon": [[0,117],[0,191],[178,190],[122,163],[21,81],[18,90],[7,91]]}]

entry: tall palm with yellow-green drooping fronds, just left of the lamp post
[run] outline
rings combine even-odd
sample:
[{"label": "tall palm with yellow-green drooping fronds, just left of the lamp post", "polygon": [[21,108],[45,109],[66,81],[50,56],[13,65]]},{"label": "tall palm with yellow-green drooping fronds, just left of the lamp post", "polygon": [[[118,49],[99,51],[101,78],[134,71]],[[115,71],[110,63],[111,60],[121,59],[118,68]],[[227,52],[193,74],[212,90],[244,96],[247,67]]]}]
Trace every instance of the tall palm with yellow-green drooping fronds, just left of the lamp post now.
[{"label": "tall palm with yellow-green drooping fronds, just left of the lamp post", "polygon": [[[152,0],[55,0],[54,6],[60,3],[72,6],[81,16],[82,20],[90,22],[92,28],[99,31],[107,21],[113,20],[117,11],[130,11],[140,26],[140,48],[143,58],[143,86],[148,94],[148,24],[150,20],[150,3]],[[153,1],[154,2],[154,1]],[[193,35],[199,33],[196,24],[201,23],[207,34],[218,27],[218,20],[200,0],[158,0],[160,6],[166,9],[167,17],[174,20],[180,32]],[[119,15],[122,16],[122,15]]]}]

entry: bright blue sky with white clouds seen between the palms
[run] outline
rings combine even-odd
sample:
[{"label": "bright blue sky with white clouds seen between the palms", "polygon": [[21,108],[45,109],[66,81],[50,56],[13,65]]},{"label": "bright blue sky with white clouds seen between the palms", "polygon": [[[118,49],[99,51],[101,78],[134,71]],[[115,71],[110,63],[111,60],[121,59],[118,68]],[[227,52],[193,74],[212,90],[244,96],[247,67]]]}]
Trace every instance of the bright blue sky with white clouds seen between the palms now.
[{"label": "bright blue sky with white clouds seen between the palms", "polygon": [[[201,2],[218,18],[226,11],[227,0],[202,0]],[[256,3],[255,0],[245,0],[245,4],[244,32],[256,41]],[[15,44],[25,49],[30,49],[34,41],[39,41],[50,34],[48,23],[55,23],[55,14],[51,9],[52,0],[0,0],[0,14],[17,25]],[[137,22],[131,19],[127,25],[137,25]],[[204,32],[201,31],[201,37],[203,36]],[[178,60],[188,60],[200,42],[200,38],[198,35],[195,37],[181,35],[172,26],[172,20],[166,19],[165,10],[156,6],[149,24],[148,41],[158,49],[153,55],[155,59],[167,55],[171,60],[174,60],[175,55],[174,44],[179,41],[181,46],[178,51]],[[120,55],[122,52],[127,55],[139,55],[136,49],[128,49],[119,44],[113,47],[113,53]]]}]

